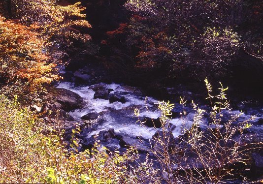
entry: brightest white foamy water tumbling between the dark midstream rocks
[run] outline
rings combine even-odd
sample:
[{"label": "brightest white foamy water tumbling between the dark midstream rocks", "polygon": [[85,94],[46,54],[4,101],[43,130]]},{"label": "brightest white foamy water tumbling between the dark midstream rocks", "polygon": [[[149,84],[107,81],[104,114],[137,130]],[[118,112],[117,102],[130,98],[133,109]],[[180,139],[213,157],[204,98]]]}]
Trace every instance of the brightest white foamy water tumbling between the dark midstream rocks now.
[{"label": "brightest white foamy water tumbling between the dark midstream rocks", "polygon": [[[83,109],[77,109],[74,111],[71,111],[69,113],[70,116],[72,116],[74,119],[81,119],[82,116],[88,114],[88,113],[100,113],[105,110],[105,108],[113,108],[115,110],[122,110],[127,107],[133,107],[136,106],[140,110],[139,118],[143,120],[144,117],[149,117],[153,119],[157,119],[161,116],[160,111],[157,109],[157,100],[151,97],[147,97],[146,103],[145,103],[145,97],[137,96],[132,94],[132,90],[130,88],[126,88],[125,86],[121,86],[118,84],[110,84],[105,85],[106,89],[113,89],[113,92],[129,92],[128,94],[124,94],[122,96],[125,97],[126,103],[121,102],[114,102],[109,103],[109,100],[105,99],[94,99],[95,92],[90,88],[90,86],[84,86],[84,87],[74,87],[73,83],[70,82],[62,82],[57,88],[64,88],[67,90],[70,90],[72,92],[75,92],[79,94],[81,97],[84,98],[87,105]],[[129,90],[130,89],[130,90]],[[111,92],[111,93],[113,93]],[[147,108],[146,108],[147,106]],[[95,131],[93,131],[91,135],[98,134],[99,131],[106,131],[109,128],[114,128],[114,131],[116,133],[126,133],[128,135],[132,136],[142,136],[144,138],[152,138],[154,133],[158,130],[153,127],[145,127],[141,126],[140,123],[136,122],[136,119],[134,118],[133,112],[130,114],[126,114],[126,117],[133,117],[128,122],[119,122],[119,119],[111,116],[110,113],[103,116],[104,121],[99,124]],[[174,136],[178,136],[182,132],[181,126],[184,124],[182,120],[180,119],[173,119],[170,121],[170,123],[173,125],[172,132]],[[191,124],[191,122],[188,122],[188,124]]]}]

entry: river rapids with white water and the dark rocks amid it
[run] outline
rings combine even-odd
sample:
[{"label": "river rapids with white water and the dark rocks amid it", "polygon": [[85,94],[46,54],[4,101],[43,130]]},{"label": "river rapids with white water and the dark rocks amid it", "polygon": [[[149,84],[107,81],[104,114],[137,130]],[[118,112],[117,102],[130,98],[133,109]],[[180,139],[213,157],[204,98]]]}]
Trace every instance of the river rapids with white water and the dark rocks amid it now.
[{"label": "river rapids with white water and the dark rocks amid it", "polygon": [[[120,149],[120,139],[125,140],[124,144],[136,145],[140,147],[149,146],[149,139],[160,130],[160,125],[154,127],[153,122],[158,124],[161,112],[158,109],[158,100],[153,97],[146,97],[142,92],[136,88],[122,84],[105,84],[97,83],[93,85],[76,85],[74,82],[61,82],[57,88],[64,88],[71,92],[79,94],[85,100],[85,107],[69,112],[69,115],[76,121],[95,122],[91,127],[86,127],[82,131],[81,144],[92,144],[94,135],[100,135],[101,144],[111,150]],[[113,100],[112,100],[113,97]],[[211,109],[207,106],[209,113]],[[134,116],[134,109],[140,111],[139,117]],[[185,109],[187,115],[182,119],[180,112]],[[248,112],[242,114],[238,122],[249,119],[252,115],[255,119],[250,123],[254,124],[260,122],[263,118],[263,108],[250,108]],[[172,118],[168,121],[168,128],[166,131],[171,131],[176,138],[183,133],[184,129],[189,129],[194,121],[195,111],[191,107],[183,107],[176,103],[172,110]],[[200,126],[209,126],[209,115],[204,116],[200,121]],[[232,115],[239,114],[239,110],[225,111],[224,117],[227,119]],[[83,120],[85,115],[88,119]],[[92,118],[91,118],[92,117]],[[146,122],[145,124],[140,123]],[[211,121],[211,120],[210,120]],[[157,122],[157,123],[156,123]],[[237,122],[237,123],[238,123]],[[107,132],[114,134],[114,141],[109,141],[105,134]],[[144,140],[144,143],[139,143]],[[103,143],[104,140],[104,143]]]}]

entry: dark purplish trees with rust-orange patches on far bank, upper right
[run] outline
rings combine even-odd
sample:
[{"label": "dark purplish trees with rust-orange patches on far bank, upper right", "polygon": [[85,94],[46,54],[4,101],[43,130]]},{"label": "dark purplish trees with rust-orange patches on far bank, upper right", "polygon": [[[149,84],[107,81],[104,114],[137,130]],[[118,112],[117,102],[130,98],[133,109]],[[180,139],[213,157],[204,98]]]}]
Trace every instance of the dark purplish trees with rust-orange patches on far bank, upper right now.
[{"label": "dark purplish trees with rust-orange patches on far bank, upper right", "polygon": [[126,45],[137,48],[138,68],[202,78],[246,67],[236,62],[243,51],[263,61],[261,0],[128,0],[125,7],[132,14]]}]

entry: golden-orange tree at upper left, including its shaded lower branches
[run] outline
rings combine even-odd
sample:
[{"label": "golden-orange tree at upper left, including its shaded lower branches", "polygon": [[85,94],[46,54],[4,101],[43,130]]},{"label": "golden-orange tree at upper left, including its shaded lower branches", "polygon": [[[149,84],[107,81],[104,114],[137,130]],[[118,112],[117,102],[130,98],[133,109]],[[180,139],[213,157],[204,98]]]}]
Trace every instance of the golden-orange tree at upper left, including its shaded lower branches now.
[{"label": "golden-orange tree at upper left, including its shaded lower branches", "polygon": [[66,6],[59,5],[56,0],[14,0],[14,3],[19,7],[15,10],[16,18],[34,26],[58,62],[74,52],[83,52],[77,51],[77,47],[80,50],[79,46],[91,40],[86,33],[91,25],[84,20],[85,7],[80,2]]}]

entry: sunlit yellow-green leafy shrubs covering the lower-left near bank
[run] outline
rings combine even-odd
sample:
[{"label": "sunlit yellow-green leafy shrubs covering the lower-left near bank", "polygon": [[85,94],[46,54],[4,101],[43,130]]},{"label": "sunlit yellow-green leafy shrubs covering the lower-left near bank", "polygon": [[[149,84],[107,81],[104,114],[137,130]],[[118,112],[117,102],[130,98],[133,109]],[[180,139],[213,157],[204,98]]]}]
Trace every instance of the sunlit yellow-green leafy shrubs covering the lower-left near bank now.
[{"label": "sunlit yellow-green leafy shrubs covering the lower-left near bank", "polygon": [[[28,108],[0,96],[0,183],[91,183],[136,181],[128,162],[134,153],[106,153],[96,143],[92,150],[76,153],[78,140],[72,131],[72,148]],[[71,151],[69,151],[71,150]]]}]

